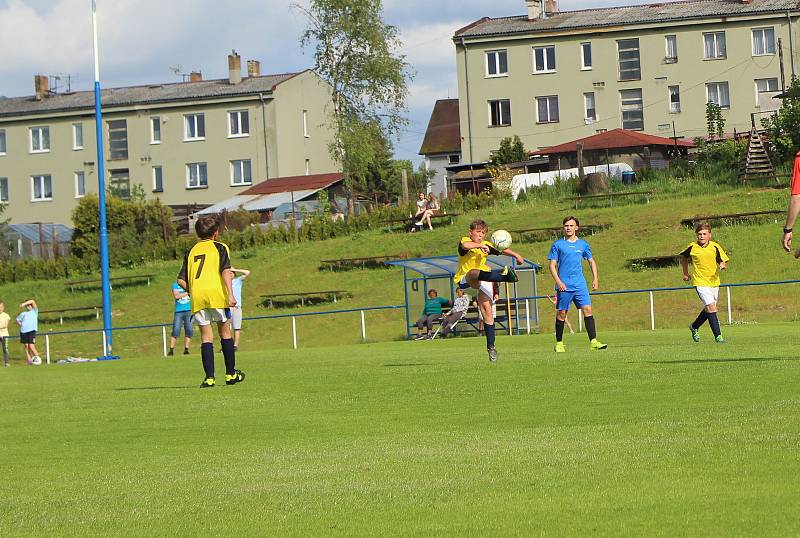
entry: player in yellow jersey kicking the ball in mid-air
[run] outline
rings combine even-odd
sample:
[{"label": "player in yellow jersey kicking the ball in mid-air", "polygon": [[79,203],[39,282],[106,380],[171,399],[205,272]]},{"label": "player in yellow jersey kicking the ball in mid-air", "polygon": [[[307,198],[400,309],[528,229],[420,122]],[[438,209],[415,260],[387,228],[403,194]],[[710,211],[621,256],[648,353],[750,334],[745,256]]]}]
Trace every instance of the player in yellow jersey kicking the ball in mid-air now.
[{"label": "player in yellow jersey kicking the ball in mid-air", "polygon": [[469,225],[469,235],[461,238],[458,244],[458,271],[453,280],[461,289],[473,288],[478,291],[478,308],[483,316],[483,329],[486,334],[486,351],[489,360],[497,360],[497,349],[494,347],[494,289],[492,282],[516,282],[517,274],[511,267],[490,270],[486,258],[490,255],[505,254],[513,256],[520,265],[525,262],[522,256],[507,248],[497,250],[490,241],[486,241],[489,226],[481,219],[473,220]]}]

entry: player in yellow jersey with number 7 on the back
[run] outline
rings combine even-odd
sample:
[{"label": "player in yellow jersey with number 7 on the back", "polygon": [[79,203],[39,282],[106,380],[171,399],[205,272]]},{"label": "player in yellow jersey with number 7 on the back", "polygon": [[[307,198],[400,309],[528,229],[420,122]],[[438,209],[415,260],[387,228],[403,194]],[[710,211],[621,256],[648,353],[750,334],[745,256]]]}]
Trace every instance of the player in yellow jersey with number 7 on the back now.
[{"label": "player in yellow jersey with number 7 on the back", "polygon": [[178,284],[189,292],[192,313],[200,326],[200,356],[206,377],[201,388],[213,387],[214,379],[214,330],[217,324],[222,355],[225,357],[225,384],[235,385],[244,381],[244,372],[236,369],[236,351],[231,332],[230,308],[236,306],[231,281],[231,259],[228,246],[217,241],[219,221],[216,217],[203,216],[197,219],[195,232],[200,240],[186,253],[178,273]]}]

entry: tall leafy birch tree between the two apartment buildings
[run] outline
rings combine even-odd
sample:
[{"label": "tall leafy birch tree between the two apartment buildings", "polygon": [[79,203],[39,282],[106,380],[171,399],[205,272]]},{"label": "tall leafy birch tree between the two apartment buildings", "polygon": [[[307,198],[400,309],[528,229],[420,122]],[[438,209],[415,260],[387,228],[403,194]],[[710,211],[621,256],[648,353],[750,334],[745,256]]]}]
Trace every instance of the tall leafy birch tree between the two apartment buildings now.
[{"label": "tall leafy birch tree between the two apartment buildings", "polygon": [[308,20],[300,44],[313,44],[314,70],[331,86],[335,136],[328,149],[345,184],[360,190],[384,157],[385,141],[407,123],[411,74],[397,52],[398,29],[383,22],[381,0],[310,0],[308,7],[292,7]]}]

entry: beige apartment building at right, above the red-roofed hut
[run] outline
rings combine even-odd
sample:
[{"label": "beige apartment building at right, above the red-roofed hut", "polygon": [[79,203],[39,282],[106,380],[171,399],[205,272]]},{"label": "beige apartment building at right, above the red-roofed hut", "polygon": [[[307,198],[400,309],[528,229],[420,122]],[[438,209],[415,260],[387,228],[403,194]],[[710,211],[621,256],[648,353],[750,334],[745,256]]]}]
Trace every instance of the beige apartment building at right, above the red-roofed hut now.
[{"label": "beige apartment building at right, above the red-roofed hut", "polygon": [[619,127],[706,136],[709,101],[725,131],[748,131],[800,67],[797,0],[569,12],[523,1],[525,15],[485,17],[453,36],[464,162],[487,160],[515,134],[529,150]]}]

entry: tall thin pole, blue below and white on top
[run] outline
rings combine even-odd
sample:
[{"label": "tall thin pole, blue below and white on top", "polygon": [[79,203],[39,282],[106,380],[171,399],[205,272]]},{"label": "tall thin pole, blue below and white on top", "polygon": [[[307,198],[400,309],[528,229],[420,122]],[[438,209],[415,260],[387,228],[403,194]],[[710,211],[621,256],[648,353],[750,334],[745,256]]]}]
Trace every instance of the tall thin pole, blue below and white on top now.
[{"label": "tall thin pole, blue below and white on top", "polygon": [[100,201],[100,278],[103,287],[103,355],[111,354],[111,282],[108,270],[108,227],[106,226],[106,178],[103,161],[103,114],[100,109],[100,59],[97,51],[97,2],[92,0],[94,37],[94,120],[97,137],[97,193]]}]

